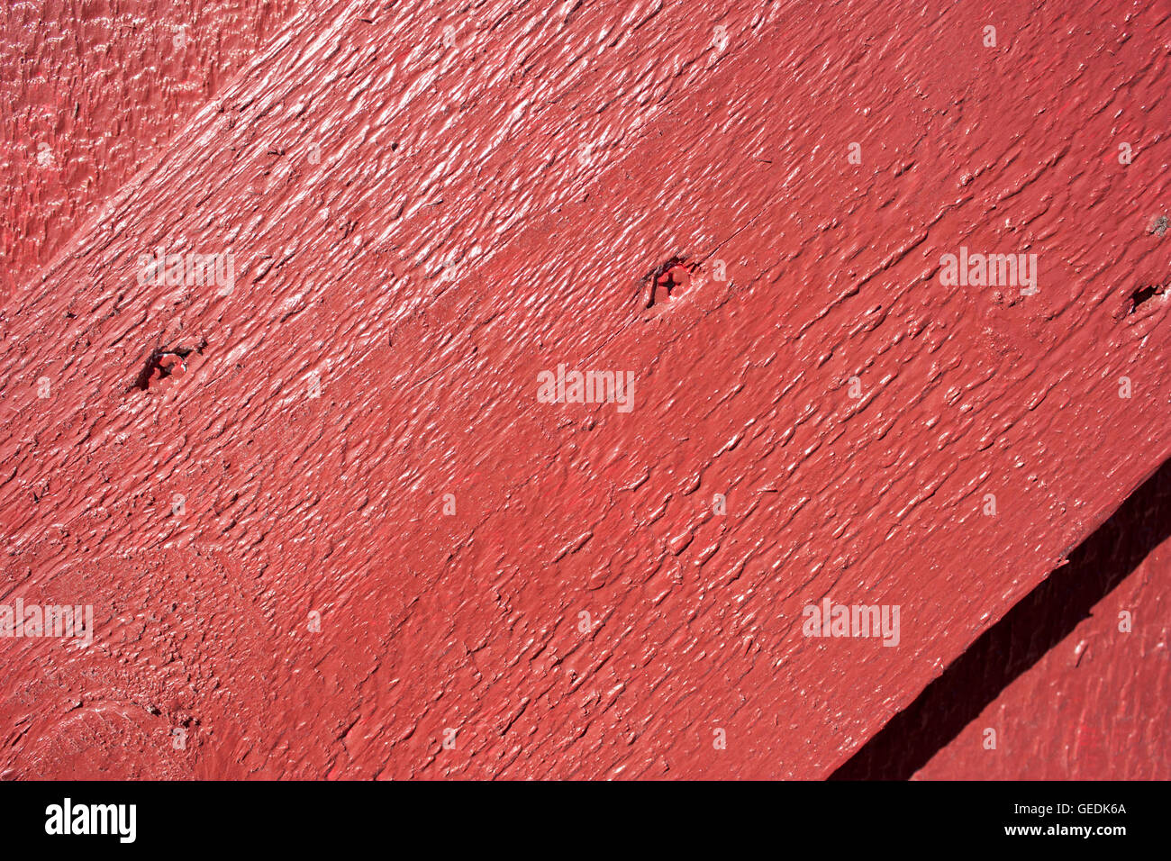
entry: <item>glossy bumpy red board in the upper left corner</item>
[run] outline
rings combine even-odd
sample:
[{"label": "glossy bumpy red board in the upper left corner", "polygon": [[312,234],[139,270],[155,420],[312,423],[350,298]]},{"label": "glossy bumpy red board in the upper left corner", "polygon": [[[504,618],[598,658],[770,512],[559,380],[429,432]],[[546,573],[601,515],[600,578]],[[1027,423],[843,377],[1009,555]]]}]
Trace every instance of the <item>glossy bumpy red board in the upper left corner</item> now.
[{"label": "glossy bumpy red board in the upper left corner", "polygon": [[163,151],[292,6],[13,0],[0,23],[0,298]]}]

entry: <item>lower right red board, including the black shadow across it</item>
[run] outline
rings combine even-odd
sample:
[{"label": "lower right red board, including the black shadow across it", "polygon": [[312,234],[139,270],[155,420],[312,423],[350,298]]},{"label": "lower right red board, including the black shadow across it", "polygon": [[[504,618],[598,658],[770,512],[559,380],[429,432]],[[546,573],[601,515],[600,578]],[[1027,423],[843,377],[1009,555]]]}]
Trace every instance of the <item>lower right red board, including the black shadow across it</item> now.
[{"label": "lower right red board, including the black shadow across it", "polygon": [[1171,462],[837,779],[1171,777]]}]

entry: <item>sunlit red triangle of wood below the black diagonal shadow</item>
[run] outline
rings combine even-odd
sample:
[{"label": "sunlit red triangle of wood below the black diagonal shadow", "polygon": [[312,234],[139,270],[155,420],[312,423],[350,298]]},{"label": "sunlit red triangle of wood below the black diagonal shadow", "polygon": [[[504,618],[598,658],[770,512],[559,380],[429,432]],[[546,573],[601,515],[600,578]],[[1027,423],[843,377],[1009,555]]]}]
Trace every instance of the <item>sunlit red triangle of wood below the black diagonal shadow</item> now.
[{"label": "sunlit red triangle of wood below the black diagonal shadow", "polygon": [[[916,778],[1171,779],[1169,588],[1165,540]],[[1137,619],[1130,634],[1118,629],[1122,613]],[[984,747],[987,727],[998,730],[994,753]]]}]

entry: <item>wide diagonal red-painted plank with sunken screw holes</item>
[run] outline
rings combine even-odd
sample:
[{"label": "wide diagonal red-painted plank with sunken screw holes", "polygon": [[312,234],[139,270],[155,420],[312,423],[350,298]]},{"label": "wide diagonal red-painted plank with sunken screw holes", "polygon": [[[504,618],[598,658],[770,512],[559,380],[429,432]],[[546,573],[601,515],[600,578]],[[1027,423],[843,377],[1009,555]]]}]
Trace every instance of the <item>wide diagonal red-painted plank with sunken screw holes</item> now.
[{"label": "wide diagonal red-painted plank with sunken screw holes", "polygon": [[1165,9],[307,15],[0,320],[0,773],[823,777],[1171,455]]}]

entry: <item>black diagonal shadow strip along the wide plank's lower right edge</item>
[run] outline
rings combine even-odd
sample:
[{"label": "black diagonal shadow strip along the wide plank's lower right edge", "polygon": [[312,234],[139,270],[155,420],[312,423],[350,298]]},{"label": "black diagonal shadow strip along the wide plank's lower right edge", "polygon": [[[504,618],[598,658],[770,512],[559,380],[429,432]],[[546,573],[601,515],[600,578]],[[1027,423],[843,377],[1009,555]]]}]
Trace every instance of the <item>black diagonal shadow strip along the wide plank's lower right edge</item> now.
[{"label": "black diagonal shadow strip along the wide plank's lower right edge", "polygon": [[[847,760],[830,780],[906,780],[1171,534],[1171,460]],[[1038,709],[1048,708],[1038,703]]]}]

